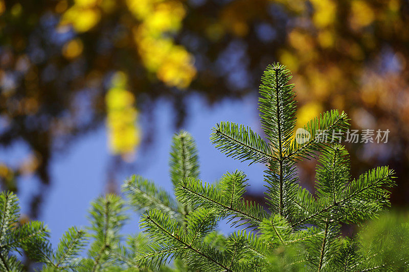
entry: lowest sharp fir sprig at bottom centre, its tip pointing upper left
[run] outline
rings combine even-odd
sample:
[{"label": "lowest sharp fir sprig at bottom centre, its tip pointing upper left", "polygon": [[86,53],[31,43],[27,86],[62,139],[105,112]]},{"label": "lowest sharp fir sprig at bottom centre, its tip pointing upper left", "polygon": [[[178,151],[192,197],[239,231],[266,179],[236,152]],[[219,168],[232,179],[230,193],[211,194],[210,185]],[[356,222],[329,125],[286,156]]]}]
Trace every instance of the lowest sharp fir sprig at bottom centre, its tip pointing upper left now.
[{"label": "lowest sharp fir sprig at bottom centre, its tip pointing upper left", "polygon": [[[208,222],[209,226],[212,226]],[[141,227],[150,235],[151,242],[137,256],[139,263],[158,267],[174,258],[183,258],[191,267],[200,271],[254,271],[257,261],[243,261],[248,257],[243,249],[242,237],[231,237],[223,252],[204,242],[193,239],[195,231],[185,233],[174,219],[157,210],[150,210],[141,217]],[[192,236],[193,235],[193,236]]]}]

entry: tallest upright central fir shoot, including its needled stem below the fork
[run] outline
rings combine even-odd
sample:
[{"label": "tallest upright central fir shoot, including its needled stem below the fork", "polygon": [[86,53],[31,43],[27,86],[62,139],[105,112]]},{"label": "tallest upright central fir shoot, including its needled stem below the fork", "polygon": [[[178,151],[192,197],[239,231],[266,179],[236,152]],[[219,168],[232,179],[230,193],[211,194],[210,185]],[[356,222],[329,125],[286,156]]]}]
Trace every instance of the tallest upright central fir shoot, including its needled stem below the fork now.
[{"label": "tallest upright central fir shoot, including its needled stem below the fork", "polygon": [[262,128],[270,140],[277,162],[270,161],[266,180],[268,201],[273,212],[288,216],[289,206],[295,196],[297,178],[293,178],[292,163],[284,158],[296,124],[296,101],[288,84],[291,74],[280,64],[269,65],[260,85],[259,110]]}]

